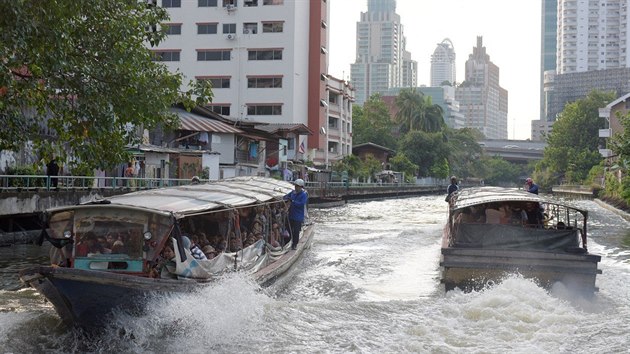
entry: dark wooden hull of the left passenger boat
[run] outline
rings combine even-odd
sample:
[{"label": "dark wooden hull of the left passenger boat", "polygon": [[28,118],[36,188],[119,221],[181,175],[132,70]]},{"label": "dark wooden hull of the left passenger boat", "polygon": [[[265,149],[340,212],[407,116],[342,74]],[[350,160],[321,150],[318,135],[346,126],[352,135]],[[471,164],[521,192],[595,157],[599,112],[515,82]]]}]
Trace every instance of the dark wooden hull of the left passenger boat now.
[{"label": "dark wooden hull of the left passenger boat", "polygon": [[[252,274],[261,286],[286,273],[310,247],[314,226],[304,229],[297,250],[289,251]],[[189,292],[211,279],[159,279],[132,274],[65,267],[34,267],[20,272],[20,279],[48,299],[69,326],[98,331],[115,310],[140,314],[152,295]]]}]

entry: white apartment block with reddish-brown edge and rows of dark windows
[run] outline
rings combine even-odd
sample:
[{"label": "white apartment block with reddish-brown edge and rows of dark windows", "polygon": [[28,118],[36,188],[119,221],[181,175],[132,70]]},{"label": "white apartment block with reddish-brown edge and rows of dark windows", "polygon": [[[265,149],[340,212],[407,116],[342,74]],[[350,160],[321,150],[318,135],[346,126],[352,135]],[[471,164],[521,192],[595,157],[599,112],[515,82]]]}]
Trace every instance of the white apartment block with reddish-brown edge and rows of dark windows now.
[{"label": "white apartment block with reddish-brown edge and rows of dark windows", "polygon": [[[313,132],[327,126],[326,0],[157,0],[157,5],[168,10],[171,21],[162,24],[166,40],[151,49],[185,81],[210,81],[212,110],[234,120],[301,123]],[[323,161],[325,140],[304,139],[309,158]]]}]

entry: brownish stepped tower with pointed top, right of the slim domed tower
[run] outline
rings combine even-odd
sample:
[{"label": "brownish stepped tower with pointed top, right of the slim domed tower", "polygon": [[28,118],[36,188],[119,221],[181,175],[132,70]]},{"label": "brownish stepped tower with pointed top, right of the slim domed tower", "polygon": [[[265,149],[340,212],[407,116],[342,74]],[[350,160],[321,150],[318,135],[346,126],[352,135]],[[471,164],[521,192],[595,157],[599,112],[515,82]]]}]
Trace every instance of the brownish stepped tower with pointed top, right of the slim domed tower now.
[{"label": "brownish stepped tower with pointed top, right of the slim domed tower", "polygon": [[478,129],[487,139],[507,139],[508,92],[499,85],[499,67],[490,61],[482,37],[466,60],[465,74],[455,97],[466,127]]}]

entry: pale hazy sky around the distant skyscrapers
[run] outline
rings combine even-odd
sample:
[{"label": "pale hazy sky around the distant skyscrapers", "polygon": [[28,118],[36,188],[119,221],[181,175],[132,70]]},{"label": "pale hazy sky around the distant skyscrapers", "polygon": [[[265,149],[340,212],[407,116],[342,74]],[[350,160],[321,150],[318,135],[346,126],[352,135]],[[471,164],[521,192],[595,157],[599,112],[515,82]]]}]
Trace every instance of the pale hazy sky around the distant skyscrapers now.
[{"label": "pale hazy sky around the distant skyscrapers", "polygon": [[[367,0],[328,0],[330,63],[328,71],[350,80],[356,58],[356,23]],[[457,81],[477,36],[490,61],[499,67],[499,84],[508,91],[508,138],[531,135],[540,111],[540,0],[397,0],[407,51],[418,62],[418,84],[429,86],[431,54],[449,38],[456,54]]]}]

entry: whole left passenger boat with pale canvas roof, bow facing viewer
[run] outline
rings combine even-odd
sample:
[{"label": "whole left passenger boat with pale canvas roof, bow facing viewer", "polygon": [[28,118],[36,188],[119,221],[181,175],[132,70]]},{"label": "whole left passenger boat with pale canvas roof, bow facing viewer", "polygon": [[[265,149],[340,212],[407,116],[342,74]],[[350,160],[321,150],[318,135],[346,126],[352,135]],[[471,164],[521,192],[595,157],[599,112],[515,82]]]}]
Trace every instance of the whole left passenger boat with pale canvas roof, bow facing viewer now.
[{"label": "whole left passenger boat with pale canvas roof, bow facing viewer", "polygon": [[[296,250],[285,238],[282,197],[293,188],[238,177],[51,209],[42,238],[54,246],[52,265],[26,269],[20,278],[63,322],[88,330],[115,310],[144,311],[149,295],[192,291],[227,272],[265,286],[291,268],[313,237],[313,225],[306,226]],[[202,245],[212,239],[215,252],[204,249],[211,259],[193,256],[191,238]],[[103,240],[114,241],[103,246]],[[168,247],[172,259],[164,258]]]}]

